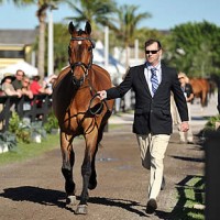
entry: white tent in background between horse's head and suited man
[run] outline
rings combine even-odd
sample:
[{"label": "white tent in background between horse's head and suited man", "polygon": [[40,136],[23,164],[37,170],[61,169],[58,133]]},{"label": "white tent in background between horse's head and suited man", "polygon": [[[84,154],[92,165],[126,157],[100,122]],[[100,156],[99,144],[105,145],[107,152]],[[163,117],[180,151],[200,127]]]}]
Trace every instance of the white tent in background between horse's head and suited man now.
[{"label": "white tent in background between horse's head and suited man", "polygon": [[111,55],[109,55],[109,65],[105,66],[105,50],[100,41],[96,43],[96,48],[94,50],[94,64],[107,69],[111,80],[117,84],[121,82],[122,76],[125,74],[124,66]]}]

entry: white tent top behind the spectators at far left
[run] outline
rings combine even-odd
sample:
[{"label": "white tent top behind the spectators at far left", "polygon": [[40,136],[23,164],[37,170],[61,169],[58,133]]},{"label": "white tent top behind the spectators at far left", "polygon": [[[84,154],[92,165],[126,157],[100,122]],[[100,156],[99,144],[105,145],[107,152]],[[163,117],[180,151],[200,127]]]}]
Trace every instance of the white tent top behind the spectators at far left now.
[{"label": "white tent top behind the spectators at far left", "polygon": [[12,64],[3,69],[0,69],[0,78],[3,78],[4,74],[15,75],[18,69],[22,69],[26,76],[32,77],[38,75],[38,69],[31,64],[21,61],[16,64]]}]

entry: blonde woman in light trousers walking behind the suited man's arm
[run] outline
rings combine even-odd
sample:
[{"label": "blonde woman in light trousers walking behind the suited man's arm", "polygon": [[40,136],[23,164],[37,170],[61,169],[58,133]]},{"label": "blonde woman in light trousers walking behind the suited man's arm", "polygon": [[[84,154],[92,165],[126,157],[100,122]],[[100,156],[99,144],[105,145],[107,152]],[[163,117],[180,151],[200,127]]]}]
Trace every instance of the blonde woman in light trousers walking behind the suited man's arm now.
[{"label": "blonde woman in light trousers walking behind the suited man's arm", "polygon": [[187,107],[188,107],[188,116],[189,116],[189,130],[187,132],[183,132],[180,130],[180,118],[179,114],[177,114],[178,119],[178,130],[179,130],[179,138],[180,138],[180,143],[188,143],[191,144],[194,143],[194,135],[191,131],[191,101],[194,99],[194,90],[191,85],[189,84],[189,78],[186,76],[185,73],[179,73],[178,74],[178,79],[180,82],[182,90],[184,92],[184,96],[186,98]]}]

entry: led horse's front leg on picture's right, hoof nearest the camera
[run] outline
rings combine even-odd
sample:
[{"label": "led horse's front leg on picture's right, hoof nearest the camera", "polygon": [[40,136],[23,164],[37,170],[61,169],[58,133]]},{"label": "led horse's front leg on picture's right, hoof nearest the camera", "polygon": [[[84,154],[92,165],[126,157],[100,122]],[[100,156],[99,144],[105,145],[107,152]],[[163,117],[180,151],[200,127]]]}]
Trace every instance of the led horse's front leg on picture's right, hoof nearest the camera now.
[{"label": "led horse's front leg on picture's right, hoof nearest the camera", "polygon": [[97,152],[96,150],[98,140],[97,128],[94,128],[92,132],[86,134],[85,139],[86,139],[86,151],[85,151],[84,162],[81,165],[82,190],[80,195],[80,202],[76,210],[76,213],[82,213],[82,215],[86,215],[88,212],[87,211],[87,200],[89,198],[88,188],[89,188],[90,177],[92,174],[91,163],[94,163],[92,162],[94,155]]}]

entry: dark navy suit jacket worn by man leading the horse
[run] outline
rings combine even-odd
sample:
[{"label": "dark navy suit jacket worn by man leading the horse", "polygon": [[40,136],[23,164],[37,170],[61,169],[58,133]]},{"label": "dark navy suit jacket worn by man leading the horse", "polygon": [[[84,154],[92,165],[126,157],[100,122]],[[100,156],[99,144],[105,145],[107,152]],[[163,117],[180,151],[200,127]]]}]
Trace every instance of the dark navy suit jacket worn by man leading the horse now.
[{"label": "dark navy suit jacket worn by man leading the horse", "polygon": [[107,90],[107,99],[121,98],[131,88],[135,92],[133,132],[136,134],[170,134],[170,91],[182,121],[188,121],[186,98],[174,68],[162,64],[162,81],[152,98],[144,76],[145,64],[131,67],[124,80]]}]

